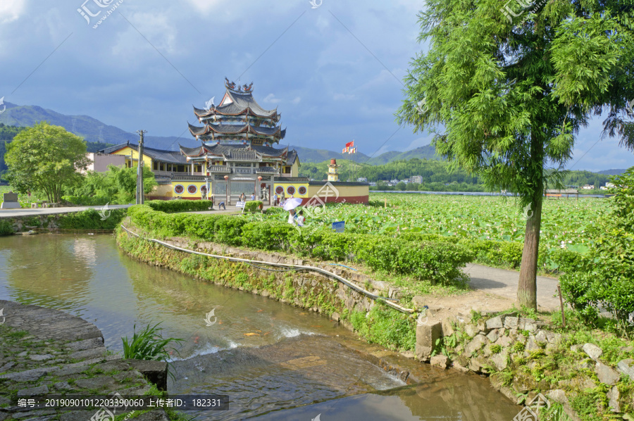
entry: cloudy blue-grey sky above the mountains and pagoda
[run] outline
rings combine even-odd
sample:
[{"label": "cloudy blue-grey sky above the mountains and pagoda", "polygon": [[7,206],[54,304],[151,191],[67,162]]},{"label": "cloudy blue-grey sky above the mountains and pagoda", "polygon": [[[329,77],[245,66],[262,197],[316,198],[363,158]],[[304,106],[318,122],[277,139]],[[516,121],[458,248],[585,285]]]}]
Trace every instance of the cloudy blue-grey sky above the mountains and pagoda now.
[{"label": "cloudy blue-grey sky above the mountains and pagoda", "polygon": [[[312,1],[312,2],[311,2]],[[225,77],[278,107],[282,144],[377,156],[429,144],[399,127],[423,1],[0,0],[0,97],[127,132],[183,136],[192,105],[222,98]],[[79,10],[78,10],[79,9]],[[108,12],[110,12],[108,14]],[[92,16],[94,15],[94,16]],[[629,168],[634,154],[577,137],[568,168]],[[191,139],[191,140],[190,140]],[[150,146],[150,145],[148,145]]]}]

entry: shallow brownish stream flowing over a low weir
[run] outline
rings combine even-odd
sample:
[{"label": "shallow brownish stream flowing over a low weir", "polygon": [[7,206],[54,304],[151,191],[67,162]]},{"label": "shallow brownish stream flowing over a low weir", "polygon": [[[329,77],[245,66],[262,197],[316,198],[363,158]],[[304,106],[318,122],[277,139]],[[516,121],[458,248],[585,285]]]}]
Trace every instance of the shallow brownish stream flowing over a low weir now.
[{"label": "shallow brownish stream flowing over a low weir", "polygon": [[161,322],[163,337],[185,340],[171,356],[170,394],[230,401],[197,420],[490,421],[519,409],[454,370],[429,367],[405,386],[342,346],[354,334],[325,316],[138,262],[112,236],[0,237],[0,299],[84,318],[113,351],[135,325]]}]

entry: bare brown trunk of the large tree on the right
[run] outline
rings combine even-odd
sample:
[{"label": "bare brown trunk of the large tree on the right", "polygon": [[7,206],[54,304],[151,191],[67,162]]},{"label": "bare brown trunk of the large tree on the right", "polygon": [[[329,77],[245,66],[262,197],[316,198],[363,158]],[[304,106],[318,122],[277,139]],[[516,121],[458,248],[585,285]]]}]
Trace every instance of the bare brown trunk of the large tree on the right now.
[{"label": "bare brown trunk of the large tree on the right", "polygon": [[535,194],[532,206],[535,211],[526,220],[524,249],[517,285],[518,306],[533,308],[533,310],[537,310],[537,258],[539,257],[540,227],[542,225],[542,201],[542,194]]}]

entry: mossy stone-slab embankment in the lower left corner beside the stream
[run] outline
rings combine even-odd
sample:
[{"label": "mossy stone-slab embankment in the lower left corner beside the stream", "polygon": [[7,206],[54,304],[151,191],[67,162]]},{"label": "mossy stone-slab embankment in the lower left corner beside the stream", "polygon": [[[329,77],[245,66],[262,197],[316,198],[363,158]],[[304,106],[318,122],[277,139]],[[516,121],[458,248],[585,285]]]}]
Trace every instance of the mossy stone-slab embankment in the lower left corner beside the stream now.
[{"label": "mossy stone-slab embankment in the lower left corner beside the stream", "polygon": [[[86,421],[86,410],[24,408],[20,398],[46,395],[142,395],[166,390],[167,365],[161,361],[122,360],[104,346],[101,331],[81,318],[38,306],[0,300],[0,421],[55,418]],[[157,413],[159,412],[159,413]],[[137,420],[167,420],[161,411]]]}]

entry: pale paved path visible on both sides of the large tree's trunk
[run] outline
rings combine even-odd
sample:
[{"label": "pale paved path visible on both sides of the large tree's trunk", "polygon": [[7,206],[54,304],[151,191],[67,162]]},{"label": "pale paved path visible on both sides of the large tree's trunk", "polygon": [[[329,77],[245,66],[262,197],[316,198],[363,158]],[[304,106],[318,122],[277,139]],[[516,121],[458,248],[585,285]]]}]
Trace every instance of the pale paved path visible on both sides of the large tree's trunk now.
[{"label": "pale paved path visible on both sides of the large tree's trunk", "polygon": [[[489,268],[473,263],[468,264],[464,272],[471,276],[471,287],[516,301],[519,272]],[[557,294],[558,282],[554,278],[537,277],[538,310],[557,310],[559,308],[559,296],[553,296]]]}]

